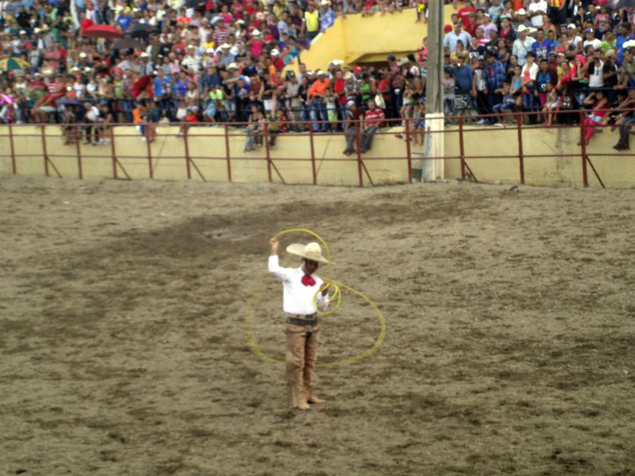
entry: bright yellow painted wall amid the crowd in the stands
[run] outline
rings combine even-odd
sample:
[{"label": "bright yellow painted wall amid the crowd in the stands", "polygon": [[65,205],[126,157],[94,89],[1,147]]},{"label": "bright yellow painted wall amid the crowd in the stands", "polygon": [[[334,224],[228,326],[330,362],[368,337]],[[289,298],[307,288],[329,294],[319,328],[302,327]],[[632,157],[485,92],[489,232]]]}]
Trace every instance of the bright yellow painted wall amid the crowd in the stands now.
[{"label": "bright yellow painted wall amid the crowd in the stands", "polygon": [[[452,5],[445,7],[445,23],[456,12]],[[428,25],[415,23],[416,11],[380,13],[370,17],[361,14],[337,18],[334,25],[313,40],[308,51],[301,55],[309,69],[326,69],[333,59],[347,64],[385,61],[387,54],[405,56],[416,51],[428,36]]]}]

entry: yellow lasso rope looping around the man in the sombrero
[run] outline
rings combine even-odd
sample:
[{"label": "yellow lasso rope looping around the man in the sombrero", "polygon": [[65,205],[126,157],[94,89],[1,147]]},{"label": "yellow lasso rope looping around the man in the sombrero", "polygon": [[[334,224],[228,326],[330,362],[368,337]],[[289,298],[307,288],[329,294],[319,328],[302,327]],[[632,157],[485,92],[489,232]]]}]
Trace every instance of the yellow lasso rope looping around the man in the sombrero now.
[{"label": "yellow lasso rope looping around the man in the sombrero", "polygon": [[[340,303],[341,303],[341,289],[346,289],[347,291],[351,291],[351,293],[358,295],[360,298],[362,298],[363,300],[365,300],[368,304],[370,304],[371,307],[373,307],[373,310],[375,310],[375,312],[377,313],[377,316],[380,319],[380,334],[379,336],[377,336],[377,338],[375,339],[375,342],[373,343],[373,346],[364,350],[361,353],[358,353],[357,355],[353,355],[352,357],[346,358],[346,359],[342,359],[342,360],[337,360],[335,362],[325,362],[325,363],[318,363],[316,365],[316,367],[339,367],[340,365],[347,365],[347,364],[352,364],[353,362],[357,362],[358,360],[361,360],[365,357],[368,357],[369,355],[372,355],[373,353],[375,353],[377,351],[378,348],[380,348],[380,346],[382,345],[384,338],[386,336],[386,318],[384,317],[384,315],[382,314],[381,310],[379,307],[377,307],[377,305],[375,303],[373,303],[372,300],[370,300],[368,298],[368,296],[364,295],[363,293],[361,293],[360,291],[357,291],[356,289],[351,288],[350,286],[346,286],[346,284],[342,284],[342,283],[338,283],[337,281],[332,281],[330,279],[331,276],[331,253],[329,252],[329,247],[326,244],[325,240],[322,239],[322,237],[320,235],[318,235],[317,233],[314,233],[313,231],[307,230],[306,228],[291,228],[289,230],[284,230],[281,231],[279,233],[277,233],[275,235],[275,238],[278,238],[279,236],[283,236],[286,235],[287,233],[308,233],[311,236],[314,236],[315,238],[317,238],[317,240],[320,241],[320,243],[322,243],[322,245],[324,246],[326,255],[327,255],[327,260],[329,261],[329,264],[327,265],[327,278],[324,280],[325,283],[328,283],[329,286],[333,286],[335,292],[334,294],[331,296],[331,302],[334,301],[336,299],[337,296],[337,304],[328,311],[322,312],[317,308],[317,303],[315,308],[317,309],[317,312],[320,312],[320,315],[329,315],[332,314],[332,312],[334,312],[335,310],[337,310],[337,308],[339,307]],[[255,309],[255,303],[257,303],[260,298],[262,297],[262,293],[264,293],[265,290],[264,288],[262,288],[262,290],[257,293],[254,298],[250,301],[250,304],[248,306],[249,312],[247,313],[247,316],[245,318],[245,333],[246,333],[246,338],[247,338],[247,343],[249,348],[251,349],[251,351],[258,356],[258,358],[264,360],[265,362],[273,362],[273,363],[277,363],[277,364],[282,364],[284,363],[284,361],[276,359],[271,357],[270,355],[265,354],[264,352],[262,352],[262,349],[260,349],[260,347],[258,346],[258,344],[255,342],[255,339],[253,337],[253,314],[254,314],[254,309]],[[318,291],[319,293],[319,291]],[[317,301],[317,293],[315,294],[315,300]]]}]

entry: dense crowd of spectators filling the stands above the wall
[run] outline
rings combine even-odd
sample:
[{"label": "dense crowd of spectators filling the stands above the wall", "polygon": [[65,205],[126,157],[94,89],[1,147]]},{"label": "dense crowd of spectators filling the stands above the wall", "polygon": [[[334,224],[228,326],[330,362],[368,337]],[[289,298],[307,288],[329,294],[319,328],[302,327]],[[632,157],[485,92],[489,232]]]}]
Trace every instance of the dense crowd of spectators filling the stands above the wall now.
[{"label": "dense crowd of spectators filling the stands above the wall", "polygon": [[[181,133],[188,123],[241,122],[253,131],[248,148],[262,142],[263,123],[274,133],[346,133],[352,116],[371,111],[374,120],[375,109],[412,118],[413,133],[423,129],[425,39],[381,67],[334,59],[309,71],[301,53],[338,16],[412,7],[408,21],[427,21],[428,0],[73,1],[74,9],[70,0],[0,0],[2,55],[29,66],[3,74],[0,121],[96,118],[137,123],[146,137],[159,121],[181,122]],[[456,8],[444,28],[447,116],[474,109],[492,114],[485,124],[502,123],[506,111],[533,111],[541,114],[528,121],[550,126],[574,121],[567,109],[588,108],[591,133],[632,116],[610,108],[633,106],[633,8],[610,8],[611,0],[446,3]],[[87,35],[99,26],[117,35]],[[296,60],[297,74],[286,68]],[[87,140],[103,143],[104,130],[91,128]]]}]

